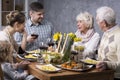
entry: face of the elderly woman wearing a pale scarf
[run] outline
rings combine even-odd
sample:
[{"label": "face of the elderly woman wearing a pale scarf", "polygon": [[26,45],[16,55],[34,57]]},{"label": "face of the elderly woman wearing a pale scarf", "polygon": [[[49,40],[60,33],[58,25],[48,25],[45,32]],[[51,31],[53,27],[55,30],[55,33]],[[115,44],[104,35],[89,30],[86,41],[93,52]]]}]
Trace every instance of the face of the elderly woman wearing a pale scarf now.
[{"label": "face of the elderly woman wearing a pale scarf", "polygon": [[77,27],[78,27],[79,31],[84,34],[88,31],[87,26],[88,25],[84,21],[82,21],[82,20],[77,21]]}]

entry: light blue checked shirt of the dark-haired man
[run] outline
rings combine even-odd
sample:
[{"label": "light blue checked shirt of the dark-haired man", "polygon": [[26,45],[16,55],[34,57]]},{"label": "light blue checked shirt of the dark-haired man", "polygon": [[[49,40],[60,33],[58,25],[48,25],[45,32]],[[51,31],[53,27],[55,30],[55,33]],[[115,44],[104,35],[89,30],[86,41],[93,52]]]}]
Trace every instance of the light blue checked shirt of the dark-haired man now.
[{"label": "light blue checked shirt of the dark-haired man", "polygon": [[[46,42],[48,38],[52,38],[52,35],[54,33],[54,28],[51,23],[47,21],[42,21],[38,25],[32,24],[31,20],[28,19],[25,25],[25,30],[28,35],[31,34],[38,34],[38,38],[36,41],[32,43],[27,43],[26,50],[34,50],[39,48],[39,43],[40,42]],[[17,41],[18,44],[21,44],[22,41],[22,34],[16,33],[14,35],[15,40]]]}]

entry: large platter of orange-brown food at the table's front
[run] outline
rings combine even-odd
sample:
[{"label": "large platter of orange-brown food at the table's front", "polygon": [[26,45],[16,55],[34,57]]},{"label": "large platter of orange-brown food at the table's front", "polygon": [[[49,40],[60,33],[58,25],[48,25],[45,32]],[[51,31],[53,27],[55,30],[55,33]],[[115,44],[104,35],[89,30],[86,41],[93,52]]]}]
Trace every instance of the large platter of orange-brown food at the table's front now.
[{"label": "large platter of orange-brown food at the table's front", "polygon": [[70,63],[65,62],[61,65],[56,65],[56,66],[65,70],[77,71],[77,72],[87,71],[93,68],[93,65],[86,65],[84,63],[71,63],[71,62]]}]

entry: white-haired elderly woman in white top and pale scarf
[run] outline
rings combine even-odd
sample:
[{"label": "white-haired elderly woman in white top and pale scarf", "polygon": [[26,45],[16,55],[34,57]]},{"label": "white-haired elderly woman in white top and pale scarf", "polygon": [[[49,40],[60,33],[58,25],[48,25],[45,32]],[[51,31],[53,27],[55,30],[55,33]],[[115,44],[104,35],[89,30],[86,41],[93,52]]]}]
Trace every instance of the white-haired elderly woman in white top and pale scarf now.
[{"label": "white-haired elderly woman in white top and pale scarf", "polygon": [[95,32],[93,16],[88,12],[80,13],[77,15],[76,21],[78,30],[75,34],[77,37],[82,38],[82,42],[80,43],[85,47],[83,57],[95,58],[100,36]]}]

